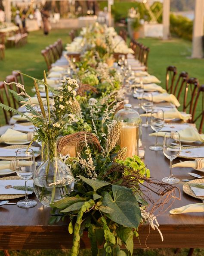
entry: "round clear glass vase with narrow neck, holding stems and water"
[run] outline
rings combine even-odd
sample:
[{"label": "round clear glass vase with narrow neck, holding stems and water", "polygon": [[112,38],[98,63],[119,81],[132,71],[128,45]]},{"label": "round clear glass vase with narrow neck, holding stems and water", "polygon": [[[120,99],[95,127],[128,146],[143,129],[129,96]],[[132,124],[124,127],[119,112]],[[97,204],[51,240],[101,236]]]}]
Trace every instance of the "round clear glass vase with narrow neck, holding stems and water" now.
[{"label": "round clear glass vase with narrow neck, holding stems and water", "polygon": [[59,158],[56,142],[49,141],[47,149],[48,157],[34,173],[33,186],[37,199],[50,207],[74,189],[74,176]]}]

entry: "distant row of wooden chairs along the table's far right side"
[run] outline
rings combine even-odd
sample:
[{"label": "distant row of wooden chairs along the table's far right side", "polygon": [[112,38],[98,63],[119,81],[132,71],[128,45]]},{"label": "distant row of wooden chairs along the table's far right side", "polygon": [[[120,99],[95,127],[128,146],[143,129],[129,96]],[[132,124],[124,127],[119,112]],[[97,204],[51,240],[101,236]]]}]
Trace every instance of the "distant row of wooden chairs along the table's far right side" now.
[{"label": "distant row of wooden chairs along the table's far right side", "polygon": [[145,45],[142,45],[141,43],[136,42],[133,39],[130,42],[130,48],[133,49],[135,53],[135,58],[139,60],[139,62],[142,65],[144,65],[147,69],[148,55],[149,55],[150,49]]}]

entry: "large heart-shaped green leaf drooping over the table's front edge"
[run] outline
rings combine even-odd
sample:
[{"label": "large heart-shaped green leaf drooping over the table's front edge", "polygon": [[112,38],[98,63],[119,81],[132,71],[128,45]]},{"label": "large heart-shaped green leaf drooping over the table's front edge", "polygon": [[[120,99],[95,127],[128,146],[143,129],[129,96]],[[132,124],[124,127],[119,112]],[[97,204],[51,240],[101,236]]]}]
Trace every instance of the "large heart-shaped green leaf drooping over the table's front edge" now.
[{"label": "large heart-shaped green leaf drooping over the table's front edge", "polygon": [[112,191],[113,198],[108,192],[104,192],[103,206],[108,206],[112,209],[110,214],[104,214],[122,226],[137,228],[141,221],[141,212],[132,190],[113,185]]}]

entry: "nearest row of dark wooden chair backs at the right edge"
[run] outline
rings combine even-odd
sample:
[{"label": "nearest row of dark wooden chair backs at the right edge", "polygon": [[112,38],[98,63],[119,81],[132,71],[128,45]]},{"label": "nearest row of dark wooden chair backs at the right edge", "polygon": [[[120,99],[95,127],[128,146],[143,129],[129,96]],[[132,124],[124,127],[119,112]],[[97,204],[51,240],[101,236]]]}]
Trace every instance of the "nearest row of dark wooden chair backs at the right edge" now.
[{"label": "nearest row of dark wooden chair backs at the right edge", "polygon": [[[191,123],[199,122],[199,132],[203,132],[204,123],[204,85],[200,86],[195,77],[182,71],[177,76],[175,66],[167,67],[166,71],[166,90],[176,96],[182,103],[182,111],[192,115]],[[183,96],[183,97],[182,97]]]}]

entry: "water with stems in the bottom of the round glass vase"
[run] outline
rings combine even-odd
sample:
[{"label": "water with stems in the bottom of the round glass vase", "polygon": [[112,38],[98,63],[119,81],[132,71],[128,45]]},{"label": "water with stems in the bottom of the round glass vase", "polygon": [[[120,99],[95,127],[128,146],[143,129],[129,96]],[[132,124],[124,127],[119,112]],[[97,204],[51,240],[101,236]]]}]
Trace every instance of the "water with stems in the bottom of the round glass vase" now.
[{"label": "water with stems in the bottom of the round glass vase", "polygon": [[34,193],[38,200],[50,207],[51,202],[59,201],[74,189],[73,177],[67,177],[65,183],[53,184],[53,176],[40,176],[34,179]]}]

